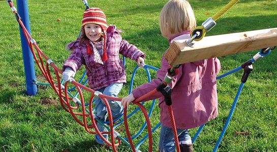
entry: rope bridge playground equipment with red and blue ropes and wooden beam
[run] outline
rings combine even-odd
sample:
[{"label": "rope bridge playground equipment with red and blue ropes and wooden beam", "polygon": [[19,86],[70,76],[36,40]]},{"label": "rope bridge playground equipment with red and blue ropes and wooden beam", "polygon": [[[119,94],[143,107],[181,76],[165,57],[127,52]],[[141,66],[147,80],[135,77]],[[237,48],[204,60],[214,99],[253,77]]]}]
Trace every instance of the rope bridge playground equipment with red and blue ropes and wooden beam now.
[{"label": "rope bridge playground equipment with red and blue ropes and wooden beam", "polygon": [[[26,44],[30,48],[30,51],[32,52],[32,55],[34,56],[34,59],[35,59],[36,63],[38,64],[40,70],[42,71],[44,77],[47,79],[49,85],[54,89],[54,91],[59,96],[59,100],[60,100],[61,106],[67,112],[71,113],[72,117],[76,120],[76,122],[79,123],[81,126],[83,126],[88,133],[99,134],[101,136],[101,138],[108,145],[112,146],[114,151],[117,151],[116,150],[116,146],[118,146],[121,143],[121,141],[126,143],[128,146],[130,146],[133,151],[139,151],[139,146],[141,145],[141,143],[146,138],[149,138],[149,140],[148,140],[148,144],[149,144],[148,151],[152,151],[152,137],[151,137],[151,133],[153,131],[155,131],[160,126],[160,124],[157,124],[157,126],[155,126],[151,130],[151,125],[150,125],[150,121],[149,121],[149,117],[151,115],[152,107],[155,105],[155,100],[152,102],[151,109],[149,110],[148,113],[146,112],[145,108],[143,107],[143,103],[140,103],[139,101],[143,100],[143,98],[145,96],[151,95],[152,93],[155,93],[155,92],[159,91],[159,89],[153,90],[153,91],[149,92],[148,94],[146,94],[145,96],[136,99],[134,104],[138,105],[138,108],[135,109],[128,116],[127,116],[127,109],[124,109],[124,121],[121,120],[121,121],[117,122],[116,124],[114,124],[120,118],[118,118],[117,120],[112,120],[112,116],[110,114],[111,110],[109,108],[109,104],[107,103],[107,99],[112,99],[112,100],[117,100],[117,101],[120,101],[121,99],[120,98],[113,98],[113,97],[105,96],[105,95],[103,95],[103,94],[101,94],[101,93],[99,93],[97,91],[94,91],[94,90],[91,90],[90,88],[87,88],[85,86],[85,83],[80,84],[80,83],[76,82],[74,79],[71,79],[70,83],[72,83],[75,87],[73,87],[71,89],[68,89],[68,83],[69,82],[66,82],[63,85],[63,81],[60,81],[60,77],[59,77],[59,74],[61,74],[62,71],[60,69],[58,69],[55,66],[55,64],[53,63],[53,61],[50,60],[47,56],[45,56],[44,53],[39,49],[36,41],[30,36],[29,31],[27,30],[27,28],[24,26],[23,22],[21,21],[21,18],[19,16],[19,14],[17,13],[16,8],[13,6],[12,1],[7,1],[7,2],[9,4],[9,6],[11,7],[12,11],[16,14],[17,21],[18,21],[20,27],[22,28],[22,33],[24,34],[24,37],[26,38]],[[83,2],[84,2],[84,5],[86,6],[86,8],[88,8],[88,5],[87,5],[86,1],[83,1]],[[238,1],[231,1],[230,3],[232,3],[234,5],[236,2],[238,2]],[[230,6],[229,6],[229,8],[230,8]],[[223,14],[223,13],[221,13],[221,14]],[[216,18],[219,18],[219,17],[216,17]],[[244,83],[247,82],[249,74],[253,70],[252,64],[255,61],[257,61],[258,59],[260,59],[260,58],[262,58],[264,56],[267,56],[271,52],[271,50],[274,49],[274,46],[277,45],[277,41],[276,41],[276,39],[277,39],[277,34],[276,34],[277,28],[265,29],[265,30],[259,30],[259,31],[242,32],[242,33],[233,33],[233,34],[230,34],[230,35],[218,35],[218,36],[213,36],[213,37],[212,36],[205,37],[206,39],[203,39],[202,41],[206,42],[207,45],[204,45],[204,47],[202,47],[201,44],[200,44],[200,43],[202,43],[202,41],[199,42],[199,43],[197,42],[197,43],[193,44],[194,40],[195,41],[201,40],[203,38],[203,36],[200,36],[200,35],[204,35],[203,33],[205,33],[210,28],[212,28],[212,25],[210,25],[210,24],[213,24],[213,21],[207,21],[207,22],[204,23],[203,28],[201,26],[201,28],[197,27],[195,30],[193,30],[192,31],[192,39],[191,40],[183,40],[183,41],[173,42],[174,45],[170,46],[169,51],[166,54],[166,56],[168,56],[167,57],[168,62],[171,65],[173,65],[171,71],[173,71],[175,68],[177,68],[178,64],[182,64],[182,63],[186,63],[186,62],[197,61],[197,60],[206,59],[206,58],[209,58],[209,57],[218,57],[218,56],[224,56],[224,55],[233,54],[233,53],[242,52],[242,51],[250,51],[250,50],[256,50],[256,49],[264,48],[264,49],[261,49],[260,52],[258,52],[255,56],[253,56],[252,59],[246,61],[241,66],[231,70],[230,72],[227,72],[227,73],[217,77],[217,79],[220,79],[220,78],[226,77],[227,75],[229,75],[229,74],[231,74],[231,73],[233,73],[235,71],[238,71],[238,70],[240,70],[242,68],[244,69],[244,72],[243,72],[243,75],[242,75],[242,79],[241,79],[241,84],[239,86],[238,92],[237,92],[236,97],[234,99],[232,108],[231,108],[229,116],[227,118],[227,122],[226,122],[226,124],[224,126],[222,134],[220,135],[220,137],[218,139],[218,142],[217,142],[216,146],[213,149],[213,151],[216,151],[218,146],[219,146],[219,144],[220,144],[220,141],[223,138],[223,135],[224,135],[224,133],[226,131],[226,128],[227,128],[227,126],[228,126],[228,124],[230,122],[230,119],[232,117],[232,113],[234,111],[234,108],[235,108],[236,102],[238,100],[239,94],[240,94],[240,92],[242,90],[242,87],[243,87]],[[208,25],[208,26],[206,26],[206,25]],[[206,28],[204,28],[204,27],[206,27]],[[264,33],[264,31],[268,31],[268,32],[265,33],[265,35],[270,35],[270,36],[269,37],[263,37],[262,33]],[[197,33],[197,32],[199,32],[200,34]],[[201,32],[202,32],[202,34],[201,34]],[[255,35],[255,33],[258,33],[258,34]],[[245,41],[244,40],[242,41],[242,39],[239,38],[238,41],[231,40],[229,42],[219,42],[218,45],[216,45],[214,41],[210,42],[210,40],[212,40],[212,39],[213,40],[215,40],[215,39],[217,40],[221,36],[241,37],[241,34],[245,37],[245,39],[244,39]],[[273,40],[273,41],[271,42],[271,41],[269,41],[269,39]],[[265,41],[266,43],[261,43],[263,41]],[[233,47],[233,48],[227,47],[230,44],[232,44],[232,45],[234,45],[236,47]],[[36,52],[37,54],[35,53],[33,46],[35,47],[35,49],[37,51]],[[224,47],[221,48],[222,46],[224,46]],[[214,49],[212,47],[217,47],[217,48]],[[241,49],[237,49],[237,48],[241,48]],[[220,49],[223,49],[223,50],[227,49],[227,51],[225,51],[225,52],[223,52],[221,54],[217,53]],[[210,51],[213,51],[213,52],[210,52]],[[193,58],[189,58],[188,57],[188,56],[192,56],[192,54],[196,54],[196,52],[199,54],[199,56],[194,56]],[[211,56],[208,56],[206,53],[210,54]],[[39,57],[39,59],[37,58],[37,56]],[[187,58],[188,58],[188,60],[185,60]],[[45,66],[43,60],[47,61],[46,66]],[[51,74],[49,72],[49,65],[55,71],[57,82],[53,82],[53,79],[52,79]],[[158,68],[152,67],[152,66],[149,66],[149,65],[144,65],[143,68],[147,72],[148,81],[150,81],[150,74],[149,74],[148,69],[158,70]],[[134,80],[133,78],[135,76],[135,73],[136,73],[137,69],[138,69],[138,66],[136,66],[135,69],[134,69],[134,72],[133,72],[133,75],[132,75],[131,84],[133,84],[133,80]],[[85,73],[83,74],[82,79],[84,79],[84,75],[85,75]],[[174,77],[174,75],[172,75],[172,76]],[[81,80],[79,82],[81,82]],[[166,80],[166,84],[168,84],[169,82],[170,82],[170,80],[168,80],[168,81]],[[36,85],[36,83],[34,83],[34,84]],[[163,87],[166,87],[166,86],[163,86]],[[77,93],[76,93],[75,96],[73,96],[70,93],[70,91],[72,91],[74,89],[77,90]],[[81,89],[91,93],[91,96],[90,96],[88,102],[85,102]],[[161,88],[161,89],[164,89],[164,88]],[[131,91],[132,91],[132,87],[130,87],[129,93],[131,93]],[[79,98],[77,98],[78,95],[79,95]],[[93,111],[94,111],[94,108],[93,108],[93,103],[94,103],[93,102],[93,98],[94,98],[94,96],[99,96],[105,102],[105,104],[107,106],[107,109],[108,109],[109,122],[101,122],[101,121],[96,120],[94,118],[94,116],[93,116]],[[76,106],[73,106],[72,105],[73,103],[76,103]],[[76,112],[76,109],[78,109],[79,106],[81,106],[81,112]],[[87,108],[87,106],[88,106],[88,108]],[[144,115],[146,121],[145,121],[143,127],[141,128],[141,130],[136,135],[131,137],[131,134],[130,134],[129,128],[128,128],[128,123],[127,123],[128,122],[128,118],[130,118],[132,115],[134,115],[134,113],[136,111],[138,111],[139,109],[141,109],[141,111],[143,112],[143,115]],[[170,109],[170,106],[169,106],[169,110],[172,111],[172,109]],[[78,119],[76,116],[80,116],[82,119]],[[171,118],[172,118],[172,121],[174,122],[174,116],[172,116]],[[87,121],[87,119],[89,120],[89,122]],[[99,132],[99,130],[96,127],[96,121],[97,121],[97,123],[102,123],[103,125],[107,124],[108,126],[105,125],[105,127],[109,131],[108,132],[102,132],[102,133]],[[127,132],[128,138],[123,138],[117,131],[115,131],[116,127],[120,123],[124,123],[125,124],[125,128],[126,128],[126,132]],[[172,128],[175,128],[174,127],[174,123],[172,125],[173,125]],[[147,132],[148,132],[148,134],[146,136],[144,136],[141,139],[141,141],[137,144],[137,146],[135,147],[132,140],[134,138],[136,138],[140,134],[140,132],[142,130],[144,130],[144,128],[146,126],[147,126]],[[197,136],[199,135],[199,133],[200,133],[200,131],[202,130],[203,127],[204,127],[204,125],[199,127],[197,133],[195,134],[195,136],[193,138],[193,142],[196,140]],[[102,134],[104,134],[104,133],[110,134],[110,136],[111,136],[111,142],[109,142],[109,141],[104,139],[104,137],[102,136]],[[176,136],[176,133],[175,133],[175,136]],[[117,143],[115,143],[115,139],[117,140]],[[175,142],[177,143],[176,139],[175,139]],[[178,145],[178,144],[176,144],[176,145]],[[180,151],[178,146],[176,146],[176,148],[177,148],[177,151]]]}]

